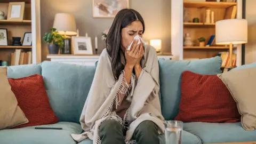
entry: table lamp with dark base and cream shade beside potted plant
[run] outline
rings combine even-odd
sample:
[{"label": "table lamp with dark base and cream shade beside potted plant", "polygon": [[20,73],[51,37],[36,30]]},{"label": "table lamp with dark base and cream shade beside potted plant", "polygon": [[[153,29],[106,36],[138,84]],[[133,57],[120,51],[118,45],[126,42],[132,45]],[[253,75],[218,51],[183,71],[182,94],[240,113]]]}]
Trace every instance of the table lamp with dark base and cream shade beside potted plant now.
[{"label": "table lamp with dark base and cream shade beside potted plant", "polygon": [[60,53],[71,54],[71,39],[68,36],[77,34],[75,17],[68,13],[57,13],[55,14],[53,28],[56,28],[60,35],[66,37],[64,47]]}]

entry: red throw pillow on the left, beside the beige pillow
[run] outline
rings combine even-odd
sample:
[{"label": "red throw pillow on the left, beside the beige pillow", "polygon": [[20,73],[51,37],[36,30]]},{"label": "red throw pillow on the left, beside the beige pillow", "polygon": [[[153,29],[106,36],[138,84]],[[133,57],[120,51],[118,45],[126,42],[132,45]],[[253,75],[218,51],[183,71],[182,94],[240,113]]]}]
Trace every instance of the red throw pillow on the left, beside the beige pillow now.
[{"label": "red throw pillow on the left, beside the beige pillow", "polygon": [[29,121],[27,124],[13,128],[54,124],[59,121],[51,108],[42,75],[36,74],[18,79],[8,78],[8,80],[17,98],[18,106]]}]

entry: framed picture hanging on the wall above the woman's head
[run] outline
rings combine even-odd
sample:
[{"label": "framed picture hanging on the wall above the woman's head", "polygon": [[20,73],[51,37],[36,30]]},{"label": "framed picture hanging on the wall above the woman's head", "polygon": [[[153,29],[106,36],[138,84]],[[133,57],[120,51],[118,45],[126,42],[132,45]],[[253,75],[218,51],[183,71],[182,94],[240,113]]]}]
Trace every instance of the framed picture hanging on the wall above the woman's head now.
[{"label": "framed picture hanging on the wall above the woman's head", "polygon": [[129,8],[129,0],[92,0],[93,18],[114,18],[118,11]]}]

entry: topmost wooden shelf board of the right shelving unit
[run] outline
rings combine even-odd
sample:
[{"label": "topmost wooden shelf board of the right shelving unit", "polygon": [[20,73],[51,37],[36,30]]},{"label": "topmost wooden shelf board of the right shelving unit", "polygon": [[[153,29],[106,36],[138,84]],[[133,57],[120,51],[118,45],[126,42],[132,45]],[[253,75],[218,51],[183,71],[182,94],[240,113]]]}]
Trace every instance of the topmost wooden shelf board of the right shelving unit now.
[{"label": "topmost wooden shelf board of the right shelving unit", "polygon": [[183,2],[184,7],[211,7],[211,8],[227,8],[230,6],[237,5],[237,3],[228,3],[228,2]]}]

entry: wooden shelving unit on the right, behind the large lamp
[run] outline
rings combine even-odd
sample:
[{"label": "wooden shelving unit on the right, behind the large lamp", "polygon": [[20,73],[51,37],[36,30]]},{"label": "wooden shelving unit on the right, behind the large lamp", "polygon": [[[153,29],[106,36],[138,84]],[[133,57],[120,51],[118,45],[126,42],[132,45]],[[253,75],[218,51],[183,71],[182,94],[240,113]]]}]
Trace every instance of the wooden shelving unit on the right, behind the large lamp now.
[{"label": "wooden shelving unit on the right, behind the large lamp", "polygon": [[[214,12],[214,21],[205,23],[206,10]],[[215,35],[215,22],[223,19],[234,19],[234,12],[237,12],[237,3],[228,2],[196,2],[183,1],[183,38],[190,35],[193,46],[183,46],[183,59],[203,59],[218,55],[219,52],[228,51],[225,45],[199,46],[198,38],[206,39],[205,45],[212,35]],[[193,19],[198,18],[199,22],[194,23]],[[230,23],[230,26],[232,24]],[[236,48],[234,48],[236,49]]]}]

